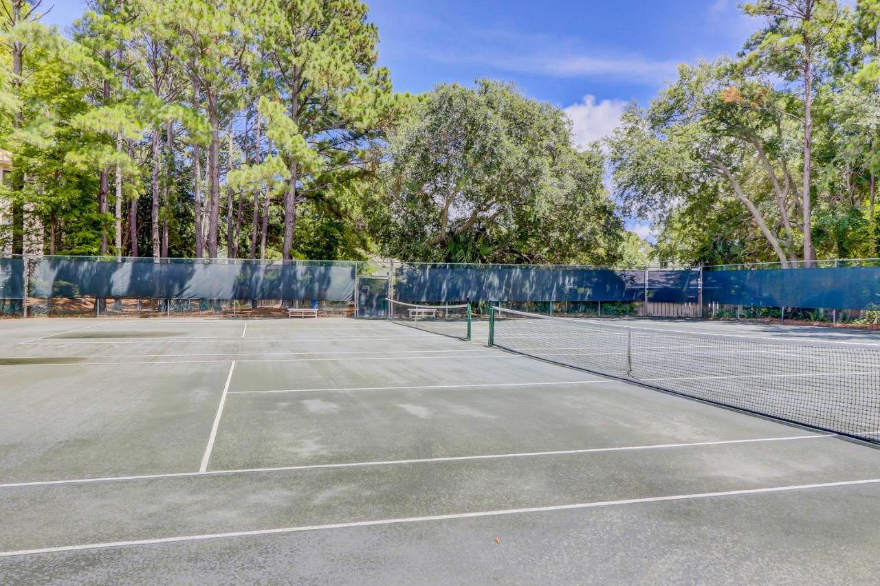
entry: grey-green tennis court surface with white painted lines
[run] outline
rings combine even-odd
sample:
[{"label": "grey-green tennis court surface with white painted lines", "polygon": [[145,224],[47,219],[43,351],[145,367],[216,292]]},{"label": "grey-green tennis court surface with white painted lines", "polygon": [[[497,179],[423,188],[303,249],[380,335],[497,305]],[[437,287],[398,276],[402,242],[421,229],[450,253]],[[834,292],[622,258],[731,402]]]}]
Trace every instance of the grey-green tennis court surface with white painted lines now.
[{"label": "grey-green tennis court surface with white painted lines", "polygon": [[[548,362],[620,348],[527,321],[495,324],[514,352],[479,320],[0,321],[0,582],[876,582],[880,451]],[[682,336],[736,334],[877,392],[873,333],[626,325],[677,343],[625,376],[721,388],[751,345]]]}]

